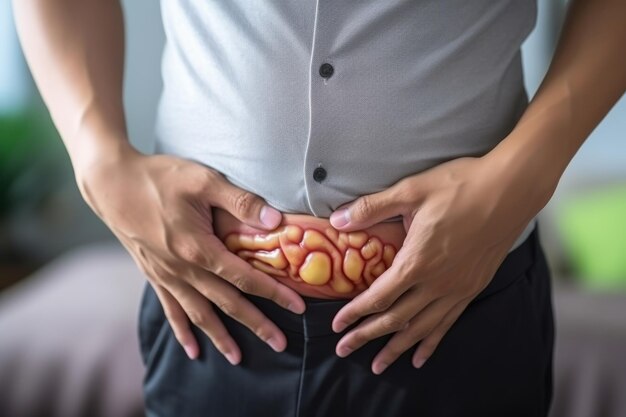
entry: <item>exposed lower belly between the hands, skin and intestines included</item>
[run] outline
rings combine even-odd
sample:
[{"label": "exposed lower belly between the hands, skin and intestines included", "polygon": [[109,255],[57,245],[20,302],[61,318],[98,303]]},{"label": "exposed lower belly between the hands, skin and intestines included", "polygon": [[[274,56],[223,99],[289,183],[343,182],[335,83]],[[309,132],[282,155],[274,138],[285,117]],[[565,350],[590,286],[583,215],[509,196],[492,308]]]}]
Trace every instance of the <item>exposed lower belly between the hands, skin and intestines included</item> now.
[{"label": "exposed lower belly between the hands, skin and intestines included", "polygon": [[391,266],[406,236],[402,222],[340,232],[328,219],[289,213],[276,229],[265,231],[217,207],[213,228],[253,267],[316,298],[354,298]]}]

